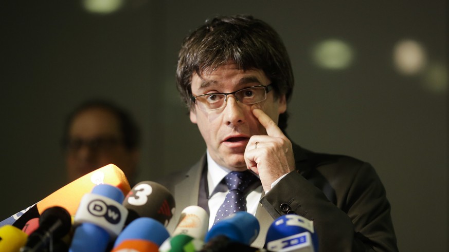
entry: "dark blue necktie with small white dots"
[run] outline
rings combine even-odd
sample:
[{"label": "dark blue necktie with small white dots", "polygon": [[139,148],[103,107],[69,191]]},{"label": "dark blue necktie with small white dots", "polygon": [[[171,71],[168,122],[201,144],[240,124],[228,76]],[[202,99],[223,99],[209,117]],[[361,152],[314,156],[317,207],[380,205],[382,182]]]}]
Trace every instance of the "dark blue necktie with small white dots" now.
[{"label": "dark blue necktie with small white dots", "polygon": [[238,211],[246,211],[246,189],[259,178],[249,171],[231,171],[224,178],[229,192],[217,211],[214,224]]}]

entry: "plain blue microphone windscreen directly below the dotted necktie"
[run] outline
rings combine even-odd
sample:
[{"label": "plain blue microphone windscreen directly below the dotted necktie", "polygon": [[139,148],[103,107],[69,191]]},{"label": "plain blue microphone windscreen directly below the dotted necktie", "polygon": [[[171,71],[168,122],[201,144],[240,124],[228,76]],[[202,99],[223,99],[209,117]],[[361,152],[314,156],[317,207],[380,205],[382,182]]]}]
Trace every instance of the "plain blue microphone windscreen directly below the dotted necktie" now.
[{"label": "plain blue microphone windscreen directly below the dotted necktie", "polygon": [[259,235],[259,221],[246,211],[236,212],[215,223],[206,234],[205,241],[217,236],[225,236],[230,241],[251,244]]}]

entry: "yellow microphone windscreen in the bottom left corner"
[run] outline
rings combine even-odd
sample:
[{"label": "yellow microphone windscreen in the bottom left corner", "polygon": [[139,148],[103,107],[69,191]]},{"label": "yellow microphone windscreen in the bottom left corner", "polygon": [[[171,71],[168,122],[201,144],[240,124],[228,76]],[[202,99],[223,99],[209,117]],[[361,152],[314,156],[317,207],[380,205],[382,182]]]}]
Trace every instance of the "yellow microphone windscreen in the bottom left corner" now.
[{"label": "yellow microphone windscreen in the bottom left corner", "polygon": [[17,252],[25,245],[28,235],[12,225],[0,227],[0,251]]}]

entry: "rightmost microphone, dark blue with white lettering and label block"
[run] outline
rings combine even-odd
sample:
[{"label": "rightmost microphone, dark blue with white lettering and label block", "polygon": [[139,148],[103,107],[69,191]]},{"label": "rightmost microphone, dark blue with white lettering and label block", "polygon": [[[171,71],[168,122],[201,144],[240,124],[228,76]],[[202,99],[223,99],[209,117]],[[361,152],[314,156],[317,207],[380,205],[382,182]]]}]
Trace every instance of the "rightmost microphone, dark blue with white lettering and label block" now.
[{"label": "rightmost microphone, dark blue with white lettering and label block", "polygon": [[313,221],[294,214],[279,217],[268,228],[264,247],[279,252],[318,251]]}]

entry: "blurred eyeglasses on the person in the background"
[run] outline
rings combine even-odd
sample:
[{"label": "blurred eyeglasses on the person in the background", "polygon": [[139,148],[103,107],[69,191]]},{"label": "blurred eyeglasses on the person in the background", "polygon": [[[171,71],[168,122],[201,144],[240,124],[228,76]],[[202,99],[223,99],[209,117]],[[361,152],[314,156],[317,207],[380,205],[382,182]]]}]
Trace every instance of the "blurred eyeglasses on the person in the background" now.
[{"label": "blurred eyeglasses on the person in the background", "polygon": [[93,151],[107,151],[120,143],[121,141],[115,137],[97,137],[93,139],[75,138],[65,140],[63,146],[69,152],[77,152],[83,146],[87,146]]}]

